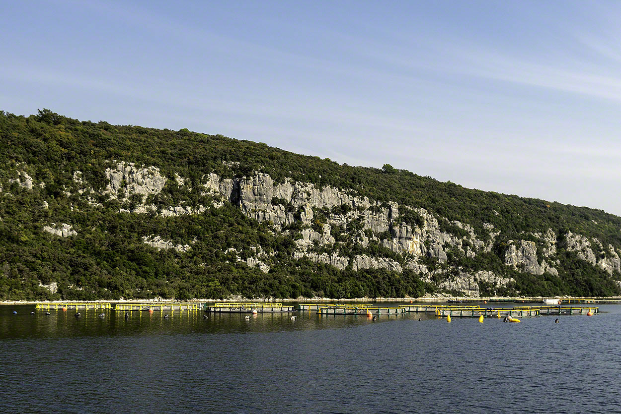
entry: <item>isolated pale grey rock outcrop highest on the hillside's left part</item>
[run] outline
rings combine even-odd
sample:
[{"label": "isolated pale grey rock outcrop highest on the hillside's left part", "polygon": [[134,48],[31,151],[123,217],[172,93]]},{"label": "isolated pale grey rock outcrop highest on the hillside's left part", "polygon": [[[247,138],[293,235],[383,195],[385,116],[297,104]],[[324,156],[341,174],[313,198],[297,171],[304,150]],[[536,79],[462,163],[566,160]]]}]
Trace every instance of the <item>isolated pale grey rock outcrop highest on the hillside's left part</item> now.
[{"label": "isolated pale grey rock outcrop highest on the hillside's left part", "polygon": [[160,193],[168,179],[160,175],[158,167],[137,167],[133,162],[112,161],[112,167],[106,169],[109,180],[106,192],[114,198],[125,192],[122,199],[129,194],[151,195]]}]

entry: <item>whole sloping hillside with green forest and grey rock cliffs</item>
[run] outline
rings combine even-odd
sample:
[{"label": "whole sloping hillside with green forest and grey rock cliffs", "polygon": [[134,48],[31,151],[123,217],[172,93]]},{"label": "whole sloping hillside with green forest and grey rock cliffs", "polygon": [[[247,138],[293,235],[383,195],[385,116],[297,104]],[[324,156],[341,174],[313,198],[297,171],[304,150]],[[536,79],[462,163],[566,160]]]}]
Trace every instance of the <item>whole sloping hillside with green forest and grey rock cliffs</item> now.
[{"label": "whole sloping hillside with green forest and grey rock cliffs", "polygon": [[621,218],[388,164],[49,110],[0,164],[0,300],[620,294]]}]

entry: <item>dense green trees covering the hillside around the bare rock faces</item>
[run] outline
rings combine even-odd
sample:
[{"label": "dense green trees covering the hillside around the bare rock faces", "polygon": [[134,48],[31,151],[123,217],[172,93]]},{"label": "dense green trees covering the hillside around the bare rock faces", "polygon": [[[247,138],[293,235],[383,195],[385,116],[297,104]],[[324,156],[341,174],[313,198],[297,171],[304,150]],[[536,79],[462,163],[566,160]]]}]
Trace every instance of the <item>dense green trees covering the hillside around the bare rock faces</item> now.
[{"label": "dense green trees covering the hillside around the bare rock faces", "polygon": [[[170,178],[161,193],[146,199],[130,194],[127,201],[103,195],[108,185],[106,169],[112,160],[156,165]],[[385,164],[382,169],[339,165],[329,159],[308,157],[270,148],[263,143],[239,141],[221,135],[155,130],[140,126],[114,126],[100,121],[78,121],[50,110],[29,117],[0,112],[0,299],[145,299],[150,297],[224,298],[232,294],[247,297],[391,297],[422,296],[437,291],[442,277],[452,271],[491,270],[513,278],[514,285],[494,290],[480,283],[482,293],[544,294],[553,296],[609,296],[619,287],[605,271],[558,249],[559,274],[528,275],[505,266],[501,258],[509,239],[528,239],[532,232],[553,229],[560,237],[569,231],[604,246],[621,246],[621,218],[590,208],[520,198],[494,192],[463,188],[451,182],[438,182]],[[443,232],[463,239],[468,232],[460,221],[473,227],[485,241],[486,226],[494,226],[501,236],[491,252],[466,257],[458,250],[448,251],[448,263],[435,258],[420,260],[433,274],[432,282],[422,280],[411,270],[338,270],[306,258],[294,259],[296,239],[304,230],[297,221],[289,234],[276,231],[269,222],[247,218],[232,200],[202,214],[165,217],[158,212],[171,206],[210,206],[212,195],[202,192],[206,174],[225,178],[270,174],[275,182],[291,178],[322,187],[330,185],[357,196],[378,201],[371,209],[386,208],[389,201],[399,203],[399,217],[410,226],[422,226],[416,209],[425,208],[438,218]],[[26,188],[17,182],[18,172],[32,177]],[[185,178],[177,182],[178,174]],[[81,192],[81,177],[93,189]],[[20,180],[25,176],[22,176]],[[150,213],[134,211],[146,203]],[[274,205],[299,216],[291,203],[274,198]],[[381,205],[381,207],[379,206]],[[412,207],[408,208],[406,206]],[[351,206],[314,208],[312,229],[322,231],[331,214],[348,214]],[[58,237],[42,231],[51,223],[71,223],[76,236]],[[153,234],[174,244],[191,244],[187,252],[158,250],[145,244]],[[389,239],[390,231],[373,235],[361,222],[332,226],[335,244],[312,249],[353,258],[355,255],[387,257],[401,263],[406,255],[386,249],[380,242],[366,247],[356,237]],[[596,249],[596,244],[593,245]],[[267,253],[268,273],[249,267],[246,260],[256,249]],[[234,250],[232,250],[234,249]],[[597,249],[596,249],[597,250]],[[597,251],[607,257],[607,249]],[[351,265],[350,265],[351,267]],[[435,283],[435,284],[434,284]],[[55,284],[57,292],[46,286]],[[45,286],[42,286],[45,285]]]}]

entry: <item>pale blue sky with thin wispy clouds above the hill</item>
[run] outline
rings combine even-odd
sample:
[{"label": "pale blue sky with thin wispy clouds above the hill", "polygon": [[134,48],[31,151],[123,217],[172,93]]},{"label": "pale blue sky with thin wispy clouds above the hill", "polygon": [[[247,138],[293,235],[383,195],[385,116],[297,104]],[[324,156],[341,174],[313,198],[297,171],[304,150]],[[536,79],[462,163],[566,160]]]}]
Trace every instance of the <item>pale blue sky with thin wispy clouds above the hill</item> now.
[{"label": "pale blue sky with thin wispy clouds above the hill", "polygon": [[5,1],[0,110],[621,216],[619,1]]}]

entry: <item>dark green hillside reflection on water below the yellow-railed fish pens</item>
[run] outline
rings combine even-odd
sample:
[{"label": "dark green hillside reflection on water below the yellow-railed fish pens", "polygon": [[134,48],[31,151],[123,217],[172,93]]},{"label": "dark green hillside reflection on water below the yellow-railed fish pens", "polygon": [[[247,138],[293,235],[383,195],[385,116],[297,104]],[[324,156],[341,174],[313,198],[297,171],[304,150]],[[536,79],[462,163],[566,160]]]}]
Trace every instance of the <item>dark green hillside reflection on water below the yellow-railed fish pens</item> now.
[{"label": "dark green hillside reflection on water below the yellow-railed fish pens", "polygon": [[[61,310],[34,311],[33,306],[0,306],[2,338],[53,338],[101,335],[150,335],[183,333],[279,332],[345,328],[373,322],[366,315],[317,315],[315,311],[266,313],[258,315],[206,313],[202,311],[125,312]],[[12,315],[17,311],[17,315]],[[103,315],[100,317],[100,315]],[[296,315],[296,320],[291,320]],[[205,319],[204,316],[207,316]],[[250,319],[245,319],[250,316]],[[375,322],[389,320],[437,319],[433,314],[379,315]]]}]

